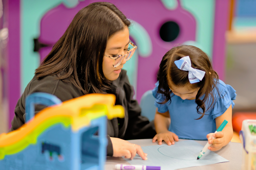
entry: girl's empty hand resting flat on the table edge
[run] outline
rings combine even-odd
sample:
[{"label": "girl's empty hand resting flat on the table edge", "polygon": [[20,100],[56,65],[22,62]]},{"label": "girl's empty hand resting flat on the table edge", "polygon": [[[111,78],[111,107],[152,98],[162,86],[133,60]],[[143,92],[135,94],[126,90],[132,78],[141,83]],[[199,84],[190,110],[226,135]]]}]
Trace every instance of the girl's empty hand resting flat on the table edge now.
[{"label": "girl's empty hand resting flat on the table edge", "polygon": [[179,137],[175,133],[167,130],[156,134],[152,142],[155,142],[156,140],[159,145],[162,145],[162,140],[164,140],[167,145],[174,145],[174,141],[179,141]]}]

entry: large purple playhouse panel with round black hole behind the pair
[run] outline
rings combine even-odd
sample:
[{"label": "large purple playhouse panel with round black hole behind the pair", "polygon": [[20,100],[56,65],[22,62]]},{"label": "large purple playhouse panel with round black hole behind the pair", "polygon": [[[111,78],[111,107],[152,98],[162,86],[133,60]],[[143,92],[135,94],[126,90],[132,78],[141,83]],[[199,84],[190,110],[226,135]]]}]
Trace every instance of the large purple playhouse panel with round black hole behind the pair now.
[{"label": "large purple playhouse panel with round black hole behind the pair", "polygon": [[[66,8],[63,4],[50,9],[41,19],[40,36],[38,40],[44,44],[54,44],[63,35],[71,22],[73,16],[83,7],[95,0],[79,2],[74,8]],[[161,1],[155,0],[130,0],[130,4],[136,4],[132,8],[127,8],[127,4],[119,0],[109,0],[115,4],[128,19],[132,19],[141,24],[152,41],[152,54],[146,58],[138,58],[137,75],[137,96],[140,101],[145,91],[153,89],[156,83],[156,72],[164,54],[174,45],[185,41],[195,41],[196,20],[192,14],[179,6],[175,10],[168,10]],[[179,1],[178,1],[179,2]],[[141,8],[143,6],[143,8]],[[175,21],[180,27],[178,37],[172,42],[165,42],[159,35],[161,26],[167,21]],[[131,37],[135,39],[134,37]],[[140,44],[134,42],[138,48]],[[39,50],[43,59],[49,52],[50,47]]]}]

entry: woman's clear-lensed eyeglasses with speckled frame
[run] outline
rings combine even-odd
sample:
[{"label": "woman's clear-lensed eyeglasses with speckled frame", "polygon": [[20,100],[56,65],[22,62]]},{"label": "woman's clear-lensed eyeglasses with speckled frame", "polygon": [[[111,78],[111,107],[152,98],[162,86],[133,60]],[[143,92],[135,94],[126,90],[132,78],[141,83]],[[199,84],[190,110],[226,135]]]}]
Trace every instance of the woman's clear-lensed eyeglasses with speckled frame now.
[{"label": "woman's clear-lensed eyeglasses with speckled frame", "polygon": [[127,48],[126,54],[124,54],[124,55],[121,54],[121,55],[117,55],[117,56],[107,56],[107,55],[104,55],[104,56],[109,57],[112,60],[114,60],[113,67],[115,68],[121,64],[121,62],[123,61],[124,58],[126,61],[130,60],[130,58],[134,54],[134,51],[136,50],[136,48],[137,48],[137,46],[134,45],[132,42],[130,42],[129,46]]}]

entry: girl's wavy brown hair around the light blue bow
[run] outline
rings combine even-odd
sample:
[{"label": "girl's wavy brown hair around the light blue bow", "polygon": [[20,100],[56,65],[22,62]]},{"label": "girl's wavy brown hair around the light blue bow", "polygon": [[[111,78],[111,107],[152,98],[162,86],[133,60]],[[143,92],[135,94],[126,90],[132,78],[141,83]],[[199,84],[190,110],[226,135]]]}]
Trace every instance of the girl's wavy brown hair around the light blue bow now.
[{"label": "girl's wavy brown hair around the light blue bow", "polygon": [[[200,82],[191,84],[188,80],[188,71],[180,70],[175,65],[174,61],[179,60],[185,56],[189,56],[191,60],[191,67],[205,71],[205,76]],[[167,76],[176,87],[185,87],[190,89],[199,88],[195,100],[197,104],[197,113],[201,114],[198,119],[201,119],[205,115],[205,112],[214,105],[214,96],[216,94],[213,93],[212,89],[216,88],[218,95],[220,95],[217,87],[219,76],[212,69],[209,56],[204,51],[195,46],[181,45],[173,47],[162,58],[159,70],[157,72],[157,77],[159,79],[157,93],[163,94],[165,96],[165,101],[163,101],[161,104],[166,103],[169,100],[171,102],[170,93],[172,93],[172,91],[170,91],[168,86]],[[203,96],[204,98],[201,100],[200,98]],[[207,106],[207,109],[205,106],[206,101],[209,101],[209,106]],[[200,108],[203,111],[202,113],[199,111]]]}]

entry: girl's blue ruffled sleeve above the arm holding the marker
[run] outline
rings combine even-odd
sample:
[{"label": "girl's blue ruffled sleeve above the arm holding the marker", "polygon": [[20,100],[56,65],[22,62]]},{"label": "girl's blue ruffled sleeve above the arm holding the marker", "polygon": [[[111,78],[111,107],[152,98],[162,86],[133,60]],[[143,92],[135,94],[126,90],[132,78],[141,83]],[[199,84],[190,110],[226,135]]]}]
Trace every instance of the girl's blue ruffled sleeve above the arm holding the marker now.
[{"label": "girl's blue ruffled sleeve above the arm holding the marker", "polygon": [[235,105],[233,100],[236,99],[236,95],[236,90],[234,90],[233,87],[230,85],[224,86],[224,89],[222,92],[220,92],[220,96],[216,95],[216,102],[211,112],[212,118],[215,119],[216,117],[222,115],[224,112],[226,112],[230,105],[233,109]]}]

